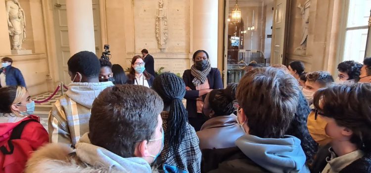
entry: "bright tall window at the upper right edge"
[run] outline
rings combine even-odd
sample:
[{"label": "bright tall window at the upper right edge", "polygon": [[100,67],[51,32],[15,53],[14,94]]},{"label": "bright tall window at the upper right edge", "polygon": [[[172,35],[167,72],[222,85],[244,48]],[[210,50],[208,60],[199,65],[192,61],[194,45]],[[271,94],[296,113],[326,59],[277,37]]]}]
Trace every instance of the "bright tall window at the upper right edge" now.
[{"label": "bright tall window at the upper right edge", "polygon": [[348,10],[348,13],[342,61],[354,60],[363,63],[369,30],[371,0],[347,0],[345,9]]}]

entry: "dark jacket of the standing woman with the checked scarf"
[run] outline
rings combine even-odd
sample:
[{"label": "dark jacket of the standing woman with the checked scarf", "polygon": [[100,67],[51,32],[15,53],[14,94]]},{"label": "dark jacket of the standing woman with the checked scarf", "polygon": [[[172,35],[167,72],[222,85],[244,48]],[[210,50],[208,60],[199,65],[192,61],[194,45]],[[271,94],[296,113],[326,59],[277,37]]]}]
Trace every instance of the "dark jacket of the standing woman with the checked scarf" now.
[{"label": "dark jacket of the standing woman with the checked scarf", "polygon": [[[197,106],[196,99],[198,96],[198,90],[193,85],[192,80],[194,76],[191,75],[190,70],[185,70],[183,73],[183,81],[186,87],[190,87],[192,90],[185,91],[184,98],[187,100],[187,111],[188,117],[197,117]],[[211,89],[223,88],[223,81],[220,72],[217,68],[211,68],[209,75],[207,75],[207,80],[209,81],[209,86]]]}]

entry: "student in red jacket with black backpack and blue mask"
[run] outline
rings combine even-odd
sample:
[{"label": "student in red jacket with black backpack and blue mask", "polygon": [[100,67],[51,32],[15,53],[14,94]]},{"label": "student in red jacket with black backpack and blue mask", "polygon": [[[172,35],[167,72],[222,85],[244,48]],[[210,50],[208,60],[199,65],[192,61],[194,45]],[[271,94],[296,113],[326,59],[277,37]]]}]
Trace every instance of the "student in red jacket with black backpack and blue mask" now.
[{"label": "student in red jacket with black backpack and blue mask", "polygon": [[25,87],[0,88],[0,173],[22,173],[33,151],[49,141]]}]

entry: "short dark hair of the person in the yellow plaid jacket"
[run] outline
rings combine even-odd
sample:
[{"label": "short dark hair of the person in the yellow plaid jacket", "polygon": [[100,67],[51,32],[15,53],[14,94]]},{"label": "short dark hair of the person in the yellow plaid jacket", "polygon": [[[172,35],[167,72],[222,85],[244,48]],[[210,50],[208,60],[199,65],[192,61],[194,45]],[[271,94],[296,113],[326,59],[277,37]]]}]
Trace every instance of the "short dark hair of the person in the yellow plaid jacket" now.
[{"label": "short dark hair of the person in the yellow plaid jacket", "polygon": [[98,57],[93,52],[81,51],[71,56],[67,62],[68,70],[72,73],[79,72],[86,78],[97,78],[100,72]]}]

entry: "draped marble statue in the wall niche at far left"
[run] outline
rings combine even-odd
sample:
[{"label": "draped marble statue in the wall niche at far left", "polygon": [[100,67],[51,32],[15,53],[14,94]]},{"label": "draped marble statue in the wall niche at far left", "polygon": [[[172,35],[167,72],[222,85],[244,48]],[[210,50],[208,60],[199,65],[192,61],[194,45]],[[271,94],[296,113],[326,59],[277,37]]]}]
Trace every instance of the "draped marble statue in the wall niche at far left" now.
[{"label": "draped marble statue in the wall niche at far left", "polygon": [[26,40],[26,21],[24,11],[18,0],[6,1],[8,31],[12,50],[22,50],[22,43]]}]

